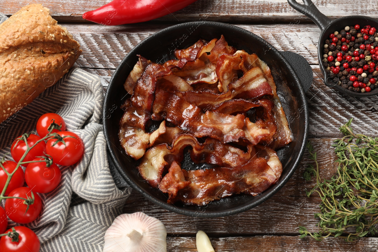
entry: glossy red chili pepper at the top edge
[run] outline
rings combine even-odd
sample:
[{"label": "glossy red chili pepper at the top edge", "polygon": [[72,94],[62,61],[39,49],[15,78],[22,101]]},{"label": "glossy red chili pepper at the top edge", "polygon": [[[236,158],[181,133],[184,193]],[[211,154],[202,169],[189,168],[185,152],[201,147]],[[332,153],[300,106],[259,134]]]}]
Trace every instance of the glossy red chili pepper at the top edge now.
[{"label": "glossy red chili pepper at the top edge", "polygon": [[113,0],[83,14],[83,19],[102,25],[145,22],[178,11],[196,0]]}]

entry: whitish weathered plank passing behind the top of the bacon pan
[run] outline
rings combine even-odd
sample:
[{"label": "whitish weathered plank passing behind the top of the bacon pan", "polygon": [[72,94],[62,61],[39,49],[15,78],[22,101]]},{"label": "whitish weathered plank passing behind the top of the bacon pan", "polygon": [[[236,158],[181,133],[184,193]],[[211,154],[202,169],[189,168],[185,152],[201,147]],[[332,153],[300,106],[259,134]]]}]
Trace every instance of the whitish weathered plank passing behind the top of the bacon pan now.
[{"label": "whitish weathered plank passing behind the top of the bacon pan", "polygon": [[[114,69],[129,51],[151,34],[168,24],[103,26],[96,24],[62,24],[73,34],[83,53],[77,65]],[[293,51],[310,64],[318,64],[317,45],[320,30],[315,25],[237,25],[254,32],[281,51]],[[199,38],[198,38],[199,39]]]}]

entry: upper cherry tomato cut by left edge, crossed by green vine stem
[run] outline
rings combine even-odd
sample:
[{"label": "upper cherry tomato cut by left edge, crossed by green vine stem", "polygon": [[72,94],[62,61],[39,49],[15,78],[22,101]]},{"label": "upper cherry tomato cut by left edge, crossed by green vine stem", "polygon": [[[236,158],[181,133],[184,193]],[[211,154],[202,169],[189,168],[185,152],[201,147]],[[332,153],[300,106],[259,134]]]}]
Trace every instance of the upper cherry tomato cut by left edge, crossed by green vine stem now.
[{"label": "upper cherry tomato cut by left edge, crossed by green vine stem", "polygon": [[[17,163],[13,161],[5,161],[3,163],[3,167],[9,173],[12,173],[16,168]],[[8,175],[4,172],[3,169],[0,169],[0,191],[3,190],[6,180],[8,179]],[[10,192],[14,189],[22,187],[25,182],[25,176],[21,167],[17,169],[17,171],[13,174],[11,181],[9,181],[8,187],[5,191],[5,196],[7,196]]]}]

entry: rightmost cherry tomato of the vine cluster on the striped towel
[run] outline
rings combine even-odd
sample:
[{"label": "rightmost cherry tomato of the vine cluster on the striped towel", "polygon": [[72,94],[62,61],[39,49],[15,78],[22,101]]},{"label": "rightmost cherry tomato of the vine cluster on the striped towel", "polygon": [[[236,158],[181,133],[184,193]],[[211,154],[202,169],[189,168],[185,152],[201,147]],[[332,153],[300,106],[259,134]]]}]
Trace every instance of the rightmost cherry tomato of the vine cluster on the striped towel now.
[{"label": "rightmost cherry tomato of the vine cluster on the striped towel", "polygon": [[76,164],[84,153],[83,141],[70,131],[60,131],[57,134],[64,140],[65,144],[62,141],[56,142],[61,139],[50,138],[46,144],[46,153],[53,158],[55,164],[65,166]]}]

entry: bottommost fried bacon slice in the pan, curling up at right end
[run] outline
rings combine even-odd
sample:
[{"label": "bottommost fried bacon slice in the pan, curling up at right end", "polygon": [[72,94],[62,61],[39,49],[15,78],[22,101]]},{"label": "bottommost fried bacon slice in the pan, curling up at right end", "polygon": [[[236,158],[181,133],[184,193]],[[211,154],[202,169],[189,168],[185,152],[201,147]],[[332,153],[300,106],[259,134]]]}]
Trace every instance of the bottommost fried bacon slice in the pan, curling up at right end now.
[{"label": "bottommost fried bacon slice in the pan, curling up at right end", "polygon": [[276,152],[263,146],[257,146],[257,150],[256,157],[236,167],[186,171],[172,162],[159,189],[169,193],[168,203],[172,204],[205,205],[239,193],[256,196],[276,184],[282,173]]}]

